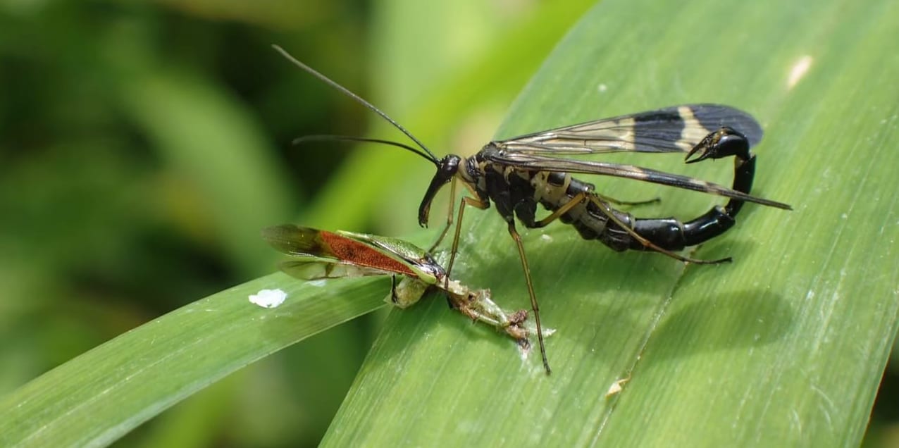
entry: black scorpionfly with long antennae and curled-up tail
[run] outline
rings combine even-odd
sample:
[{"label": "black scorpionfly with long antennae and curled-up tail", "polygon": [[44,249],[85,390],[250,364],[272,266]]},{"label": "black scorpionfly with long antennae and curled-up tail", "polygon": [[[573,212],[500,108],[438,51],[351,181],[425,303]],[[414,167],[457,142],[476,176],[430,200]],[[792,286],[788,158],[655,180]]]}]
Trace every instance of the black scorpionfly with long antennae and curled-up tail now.
[{"label": "black scorpionfly with long antennae and curled-up tail", "polygon": [[[561,220],[571,224],[581,237],[598,239],[616,251],[649,250],[684,263],[717,264],[728,262],[730,258],[701,260],[676,254],[675,251],[697,246],[732,228],[744,202],[790,210],[788,204],[750,194],[755,176],[755,156],[750,147],[761,140],[762,130],[750,114],[730,106],[684,104],[637,112],[491,141],[472,157],[450,154],[439,158],[385,112],[307,67],[283,49],[277,46],[275,49],[307,73],[378,113],[397,130],[402,131],[418,148],[382,139],[343,136],[309,136],[298,141],[347,139],[384,143],[414,152],[437,167],[437,174],[424,193],[418,211],[418,222],[426,227],[434,196],[444,185],[451,185],[446,226],[441,230],[435,247],[441,243],[453,222],[452,207],[455,199],[452,198],[455,197],[456,183],[463,184],[471,193],[471,196],[463,196],[459,202],[456,231],[447,265],[448,273],[452,270],[458,252],[459,231],[466,207],[485,210],[490,208],[491,202],[494,203],[518,248],[547,373],[550,372],[549,363],[543,340],[539,337],[539,305],[524,245],[515,227],[516,218],[526,228],[542,228],[554,220]],[[616,152],[686,153],[685,162],[688,164],[705,159],[734,157],[734,181],[728,188],[640,166],[566,158]],[[675,218],[636,218],[628,212],[615,209],[613,205],[636,205],[643,202],[622,202],[597,193],[593,184],[575,179],[573,174],[624,177],[724,196],[729,201],[724,206],[716,205],[698,218],[686,222]],[[536,214],[538,204],[549,211],[541,219]]]}]

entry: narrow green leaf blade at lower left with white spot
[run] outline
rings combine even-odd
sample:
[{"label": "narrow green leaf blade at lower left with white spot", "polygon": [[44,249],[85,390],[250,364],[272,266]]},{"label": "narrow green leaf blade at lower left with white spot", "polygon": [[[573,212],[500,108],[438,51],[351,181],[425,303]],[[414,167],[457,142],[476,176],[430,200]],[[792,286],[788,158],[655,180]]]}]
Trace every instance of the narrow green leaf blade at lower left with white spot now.
[{"label": "narrow green leaf blade at lower left with white spot", "polygon": [[[289,294],[279,308],[247,300],[271,288]],[[323,288],[276,273],[193,302],[5,396],[0,445],[110,444],[246,364],[377,309],[388,289],[384,279]]]}]

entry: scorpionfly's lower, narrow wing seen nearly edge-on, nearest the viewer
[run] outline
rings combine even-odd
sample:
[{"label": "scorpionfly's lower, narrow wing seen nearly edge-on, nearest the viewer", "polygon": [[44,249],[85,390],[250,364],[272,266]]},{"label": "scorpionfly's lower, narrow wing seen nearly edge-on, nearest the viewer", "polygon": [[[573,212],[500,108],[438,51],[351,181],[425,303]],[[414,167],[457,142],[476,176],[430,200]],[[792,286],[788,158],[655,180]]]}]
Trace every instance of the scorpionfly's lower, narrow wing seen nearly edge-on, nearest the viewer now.
[{"label": "scorpionfly's lower, narrow wing seen nearly edge-on, nearest the viewer", "polygon": [[584,175],[611,175],[624,177],[653,184],[692,190],[694,192],[717,194],[746,202],[756,202],[779,209],[792,210],[788,204],[757,198],[750,194],[738,192],[724,185],[694,179],[685,175],[673,175],[641,166],[612,164],[588,160],[570,160],[565,158],[535,156],[520,152],[494,152],[487,156],[489,160],[503,165],[515,166],[516,169],[549,171],[555,173],[579,173]]}]

